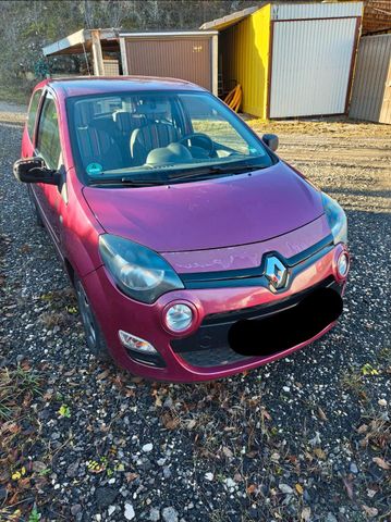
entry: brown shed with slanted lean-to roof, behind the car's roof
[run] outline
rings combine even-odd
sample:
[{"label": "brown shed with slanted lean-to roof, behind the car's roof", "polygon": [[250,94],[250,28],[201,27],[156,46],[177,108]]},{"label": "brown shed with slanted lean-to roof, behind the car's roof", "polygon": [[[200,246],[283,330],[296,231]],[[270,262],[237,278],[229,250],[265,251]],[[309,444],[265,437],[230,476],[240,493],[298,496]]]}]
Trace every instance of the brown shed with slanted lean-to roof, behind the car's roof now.
[{"label": "brown shed with slanted lean-to roof, behind the car's roof", "polygon": [[84,57],[87,74],[181,78],[218,94],[217,30],[127,33],[113,28],[82,29],[42,50],[46,57]]}]

